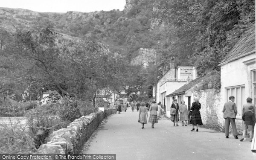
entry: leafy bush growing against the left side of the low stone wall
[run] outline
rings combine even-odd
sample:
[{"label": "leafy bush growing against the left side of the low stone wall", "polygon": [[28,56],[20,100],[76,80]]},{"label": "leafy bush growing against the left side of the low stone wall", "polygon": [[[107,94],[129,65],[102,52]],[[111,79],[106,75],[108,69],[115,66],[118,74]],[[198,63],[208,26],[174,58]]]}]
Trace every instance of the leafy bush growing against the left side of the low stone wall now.
[{"label": "leafy bush growing against the left side of the low stone wall", "polygon": [[62,99],[58,103],[38,106],[26,114],[29,131],[34,135],[35,146],[47,142],[47,137],[52,131],[66,128],[70,122],[81,117],[77,101]]}]

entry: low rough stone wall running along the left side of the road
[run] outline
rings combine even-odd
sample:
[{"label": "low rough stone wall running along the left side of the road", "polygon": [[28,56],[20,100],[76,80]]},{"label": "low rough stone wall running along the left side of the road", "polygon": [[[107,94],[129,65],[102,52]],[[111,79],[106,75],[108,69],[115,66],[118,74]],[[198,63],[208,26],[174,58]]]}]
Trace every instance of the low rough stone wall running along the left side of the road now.
[{"label": "low rough stone wall running along the left side of the road", "polygon": [[36,154],[80,154],[84,143],[111,110],[90,113],[74,120],[67,128],[52,132],[49,141],[42,144]]}]

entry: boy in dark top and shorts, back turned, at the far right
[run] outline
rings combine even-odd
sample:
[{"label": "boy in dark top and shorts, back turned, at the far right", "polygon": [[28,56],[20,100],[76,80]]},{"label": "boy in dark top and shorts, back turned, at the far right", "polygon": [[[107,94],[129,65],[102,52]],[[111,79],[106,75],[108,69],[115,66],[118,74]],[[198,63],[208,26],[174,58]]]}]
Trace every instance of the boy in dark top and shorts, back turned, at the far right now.
[{"label": "boy in dark top and shorts, back turned, at the far right", "polygon": [[243,131],[243,137],[240,140],[241,142],[244,140],[244,138],[246,137],[246,130],[249,130],[249,135],[250,135],[250,142],[252,142],[253,140],[253,128],[255,125],[255,113],[253,113],[253,109],[254,106],[250,106],[248,108],[248,111],[244,112],[242,119],[244,121],[244,131]]}]

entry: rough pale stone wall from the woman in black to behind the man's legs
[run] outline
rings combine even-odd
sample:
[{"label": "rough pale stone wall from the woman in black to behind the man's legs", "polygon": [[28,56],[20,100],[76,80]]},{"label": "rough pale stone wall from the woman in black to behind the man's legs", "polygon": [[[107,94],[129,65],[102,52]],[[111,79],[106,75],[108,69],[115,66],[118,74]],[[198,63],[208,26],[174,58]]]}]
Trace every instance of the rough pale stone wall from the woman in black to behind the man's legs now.
[{"label": "rough pale stone wall from the woman in black to behind the man's legs", "polygon": [[[201,103],[200,113],[204,127],[224,132],[225,119],[223,118],[222,113],[224,104],[221,102],[220,90],[199,90],[194,92],[194,96],[197,96],[199,98],[199,102]],[[242,134],[241,119],[236,119],[236,128],[239,131],[239,134]],[[232,132],[231,124],[230,132]]]}]

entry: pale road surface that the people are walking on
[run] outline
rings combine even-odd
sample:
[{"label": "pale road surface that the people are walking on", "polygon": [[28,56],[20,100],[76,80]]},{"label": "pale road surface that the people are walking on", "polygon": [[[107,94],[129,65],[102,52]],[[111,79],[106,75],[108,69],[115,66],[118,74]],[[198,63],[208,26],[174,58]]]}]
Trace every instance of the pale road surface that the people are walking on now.
[{"label": "pale road surface that the people are walking on", "polygon": [[160,119],[141,128],[139,112],[128,111],[109,116],[107,122],[90,139],[83,154],[116,154],[116,160],[256,160],[249,140],[240,142],[230,135],[192,126],[173,126]]}]

